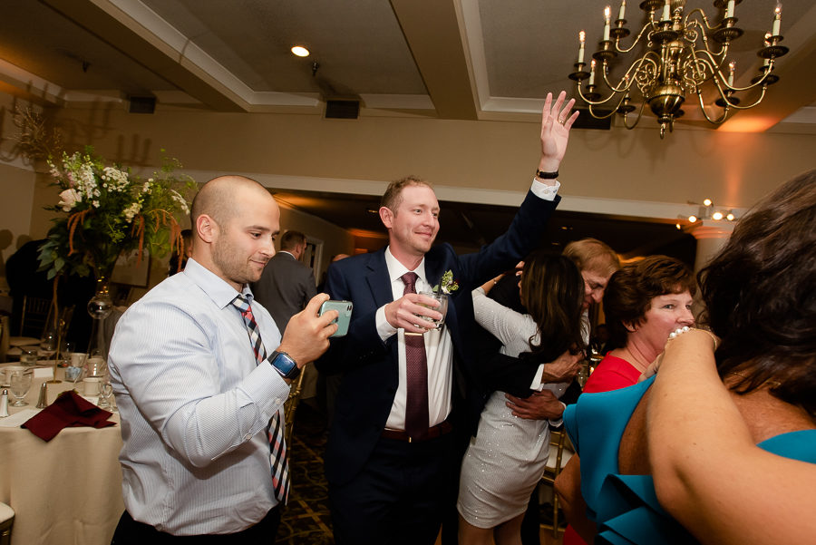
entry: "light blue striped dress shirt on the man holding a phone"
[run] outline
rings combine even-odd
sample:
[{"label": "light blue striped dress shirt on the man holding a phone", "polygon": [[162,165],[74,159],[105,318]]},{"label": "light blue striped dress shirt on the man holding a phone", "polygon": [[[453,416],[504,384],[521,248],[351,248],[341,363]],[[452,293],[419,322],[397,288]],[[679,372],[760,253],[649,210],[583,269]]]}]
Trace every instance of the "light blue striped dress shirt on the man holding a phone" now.
[{"label": "light blue striped dress shirt on the man holding a phone", "polygon": [[[266,430],[289,386],[256,365],[237,295],[189,259],[121,316],[113,336],[125,508],[171,534],[237,532],[277,504]],[[252,310],[271,353],[277,326],[257,302]]]}]

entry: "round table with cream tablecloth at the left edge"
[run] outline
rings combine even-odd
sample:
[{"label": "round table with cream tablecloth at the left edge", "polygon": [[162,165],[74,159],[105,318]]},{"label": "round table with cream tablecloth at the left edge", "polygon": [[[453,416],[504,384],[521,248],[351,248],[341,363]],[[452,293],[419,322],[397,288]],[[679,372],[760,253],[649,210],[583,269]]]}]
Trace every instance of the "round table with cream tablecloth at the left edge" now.
[{"label": "round table with cream tablecloth at the left edge", "polygon": [[[5,366],[0,365],[0,370]],[[36,410],[40,385],[49,378],[34,377],[25,397],[28,405],[9,407],[12,417]],[[57,378],[64,378],[62,368],[57,368]],[[48,384],[48,403],[72,387],[65,381]],[[11,404],[14,396],[9,393],[9,397]],[[7,419],[0,418],[0,501],[15,510],[11,545],[111,542],[124,511],[119,414],[114,413],[111,420],[117,425],[65,428],[46,443],[19,425],[5,427]]]}]

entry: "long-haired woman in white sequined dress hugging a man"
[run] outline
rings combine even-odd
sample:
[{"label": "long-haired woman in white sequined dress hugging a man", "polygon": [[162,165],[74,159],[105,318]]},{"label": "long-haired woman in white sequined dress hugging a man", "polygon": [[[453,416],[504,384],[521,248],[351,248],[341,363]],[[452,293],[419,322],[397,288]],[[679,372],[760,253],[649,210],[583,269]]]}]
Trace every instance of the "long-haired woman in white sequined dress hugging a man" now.
[{"label": "long-haired woman in white sequined dress hugging a man", "polygon": [[[530,353],[547,362],[559,356],[581,358],[584,282],[570,259],[540,252],[527,259],[519,287],[529,314],[488,298],[486,290],[493,284],[491,280],[473,290],[473,309],[476,321],[500,339],[502,353]],[[541,387],[559,397],[567,386]],[[547,463],[549,421],[517,418],[506,401],[503,392],[491,394],[461,464],[460,543],[520,543],[529,496]]]}]

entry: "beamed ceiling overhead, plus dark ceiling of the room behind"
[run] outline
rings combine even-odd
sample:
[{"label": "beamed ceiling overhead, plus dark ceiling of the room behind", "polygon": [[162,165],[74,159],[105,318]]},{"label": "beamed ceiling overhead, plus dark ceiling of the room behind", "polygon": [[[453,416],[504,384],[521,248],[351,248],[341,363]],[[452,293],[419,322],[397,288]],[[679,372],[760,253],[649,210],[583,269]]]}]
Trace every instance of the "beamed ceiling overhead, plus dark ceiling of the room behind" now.
[{"label": "beamed ceiling overhead, plus dark ceiling of the room behind", "polygon": [[[607,2],[15,0],[4,3],[0,19],[0,90],[56,106],[153,97],[158,109],[322,115],[326,99],[351,98],[361,102],[361,116],[529,119],[539,114],[547,92],[574,89],[567,76],[574,71],[578,31],[587,31],[591,52]],[[619,4],[612,4],[617,14]],[[630,4],[632,28],[645,15],[637,1]],[[756,50],[771,28],[775,5],[752,0],[736,6],[738,26],[745,29],[732,47],[738,85],[757,73]],[[688,0],[686,13],[693,7],[703,7],[714,20],[722,16],[710,1]],[[756,115],[773,131],[816,133],[814,28],[816,3],[785,0],[783,44],[791,53],[774,72],[781,80],[760,108],[734,120]],[[291,54],[294,44],[306,45],[311,56]],[[685,110],[678,128],[701,123],[698,108]],[[287,190],[278,198],[346,229],[379,229],[374,214],[361,221],[357,213],[376,208],[371,197]],[[456,203],[444,203],[443,211],[441,236],[449,231],[471,241],[480,238],[479,229],[490,240],[493,225],[501,232],[511,215],[502,207]],[[461,233],[448,219],[454,217],[461,219]],[[565,212],[562,218],[554,224],[571,225],[573,234],[582,229],[581,220],[612,221],[589,234],[611,238],[620,231],[614,246],[619,251],[642,248],[638,241],[647,229],[638,222],[617,229],[626,222],[586,214]],[[669,246],[677,237],[654,235]]]}]

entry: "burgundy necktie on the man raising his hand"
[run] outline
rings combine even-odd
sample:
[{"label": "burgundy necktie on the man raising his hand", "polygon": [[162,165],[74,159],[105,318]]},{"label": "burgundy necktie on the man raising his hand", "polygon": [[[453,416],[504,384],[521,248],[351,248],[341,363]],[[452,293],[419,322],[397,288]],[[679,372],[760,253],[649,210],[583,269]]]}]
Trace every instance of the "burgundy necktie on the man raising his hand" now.
[{"label": "burgundy necktie on the man raising his hand", "polygon": [[[400,278],[405,284],[403,295],[416,293],[416,273],[408,272]],[[412,437],[422,437],[428,432],[428,361],[422,335],[405,333],[405,366],[408,382],[405,432]]]}]

